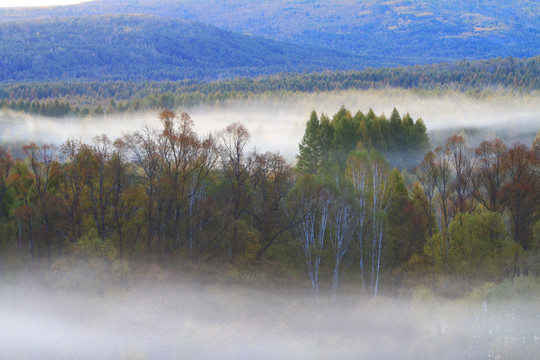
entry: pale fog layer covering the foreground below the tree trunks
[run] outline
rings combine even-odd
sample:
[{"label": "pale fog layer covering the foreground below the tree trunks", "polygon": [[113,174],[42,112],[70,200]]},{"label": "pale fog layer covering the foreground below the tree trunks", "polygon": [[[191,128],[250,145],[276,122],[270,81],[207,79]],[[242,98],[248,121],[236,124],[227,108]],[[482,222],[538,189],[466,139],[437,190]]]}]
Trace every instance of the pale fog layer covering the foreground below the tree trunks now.
[{"label": "pale fog layer covering the foreground below the tree trunks", "polygon": [[2,359],[532,358],[532,302],[342,295],[193,281],[76,292],[35,277],[0,282]]}]

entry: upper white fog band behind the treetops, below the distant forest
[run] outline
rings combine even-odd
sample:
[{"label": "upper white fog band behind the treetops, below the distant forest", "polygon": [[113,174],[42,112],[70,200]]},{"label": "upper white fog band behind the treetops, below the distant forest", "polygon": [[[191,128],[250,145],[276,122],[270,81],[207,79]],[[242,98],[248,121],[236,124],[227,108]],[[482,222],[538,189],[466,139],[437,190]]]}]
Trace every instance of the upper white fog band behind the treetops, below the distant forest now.
[{"label": "upper white fog band behind the treetops, below the distant forest", "polygon": [[[342,105],[353,114],[358,110],[367,113],[372,108],[377,115],[389,116],[396,107],[401,115],[409,113],[415,120],[422,118],[434,145],[444,143],[449,134],[464,128],[468,129],[471,145],[494,137],[502,137],[508,143],[530,143],[540,130],[540,96],[503,93],[480,98],[456,92],[423,95],[397,89],[292,93],[285,98],[259,95],[216,106],[176,110],[191,115],[199,134],[219,131],[239,121],[248,128],[252,146],[261,151],[279,151],[289,161],[294,161],[310,112],[316,110],[319,115],[324,112],[331,116]],[[4,111],[0,113],[0,142],[4,145],[30,141],[60,144],[68,138],[91,141],[102,133],[114,139],[139,129],[142,124],[159,127],[157,115],[156,111],[81,120],[31,117]]]}]

